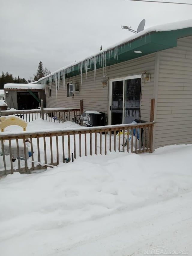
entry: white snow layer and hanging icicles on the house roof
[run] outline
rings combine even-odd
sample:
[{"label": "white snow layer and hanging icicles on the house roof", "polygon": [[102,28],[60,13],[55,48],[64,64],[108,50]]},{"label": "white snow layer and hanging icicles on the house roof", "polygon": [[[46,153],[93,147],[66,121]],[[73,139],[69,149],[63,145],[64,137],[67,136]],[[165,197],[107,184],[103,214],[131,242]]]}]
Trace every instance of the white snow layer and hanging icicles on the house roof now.
[{"label": "white snow layer and hanging icicles on the house roof", "polygon": [[[51,83],[53,75],[54,75],[55,83],[57,83],[57,81],[59,81],[60,76],[62,76],[63,80],[65,81],[65,77],[67,75],[69,75],[71,72],[74,73],[74,71],[76,71],[77,69],[80,70],[81,82],[82,82],[82,68],[84,68],[85,73],[87,73],[87,66],[89,66],[89,65],[91,66],[94,64],[94,70],[96,71],[96,65],[97,65],[98,59],[99,59],[99,62],[101,62],[101,65],[102,65],[102,62],[103,62],[103,65],[106,65],[106,53],[108,54],[108,58],[110,59],[110,57],[112,55],[112,51],[114,51],[114,53],[113,53],[114,58],[118,59],[119,47],[121,47],[122,45],[124,45],[124,47],[125,47],[125,44],[130,43],[130,48],[131,48],[131,42],[133,42],[134,40],[136,40],[138,38],[142,39],[143,36],[146,37],[146,35],[151,35],[151,33],[153,33],[153,32],[176,31],[176,30],[186,29],[186,28],[192,28],[192,19],[162,24],[162,25],[158,25],[158,26],[154,26],[154,27],[145,29],[137,34],[131,35],[130,37],[126,38],[125,40],[122,40],[122,41],[118,42],[117,44],[114,44],[114,45],[94,54],[94,55],[91,55],[83,60],[80,60],[79,62],[73,62],[63,68],[60,68],[60,69],[52,72],[51,74],[40,78],[38,80],[38,82],[42,81],[42,82],[44,82],[44,85],[46,85],[46,81],[49,80],[49,82]],[[192,35],[192,33],[190,35]],[[171,47],[173,47],[173,46],[171,46]],[[139,56],[137,55],[137,57],[139,57]],[[63,81],[63,83],[64,83],[64,81]]]}]

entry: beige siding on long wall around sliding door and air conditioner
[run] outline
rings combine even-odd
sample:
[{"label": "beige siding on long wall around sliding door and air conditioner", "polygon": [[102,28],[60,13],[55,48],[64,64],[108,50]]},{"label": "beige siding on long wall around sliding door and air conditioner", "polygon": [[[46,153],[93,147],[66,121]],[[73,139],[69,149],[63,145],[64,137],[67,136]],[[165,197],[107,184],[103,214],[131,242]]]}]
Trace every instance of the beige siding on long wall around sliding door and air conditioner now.
[{"label": "beige siding on long wall around sliding door and air conditioner", "polygon": [[[108,90],[107,86],[103,86],[101,81],[105,80],[103,75],[107,74],[110,79],[118,77],[126,77],[130,75],[142,74],[147,71],[151,74],[151,81],[142,83],[141,95],[141,116],[142,120],[150,120],[150,106],[151,98],[153,98],[153,84],[154,84],[154,65],[155,54],[140,57],[134,60],[122,62],[116,65],[107,66],[106,69],[100,68],[96,70],[96,80],[94,81],[94,71],[87,72],[82,75],[83,83],[81,86],[80,75],[70,77],[65,80],[65,88],[60,81],[59,91],[56,90],[55,83],[52,83],[52,98],[46,97],[46,107],[69,107],[80,108],[80,100],[83,100],[84,110],[98,110],[103,111],[108,115]],[[67,98],[67,83],[79,83],[79,92],[74,92],[74,96]],[[49,86],[49,84],[47,85]]]}]

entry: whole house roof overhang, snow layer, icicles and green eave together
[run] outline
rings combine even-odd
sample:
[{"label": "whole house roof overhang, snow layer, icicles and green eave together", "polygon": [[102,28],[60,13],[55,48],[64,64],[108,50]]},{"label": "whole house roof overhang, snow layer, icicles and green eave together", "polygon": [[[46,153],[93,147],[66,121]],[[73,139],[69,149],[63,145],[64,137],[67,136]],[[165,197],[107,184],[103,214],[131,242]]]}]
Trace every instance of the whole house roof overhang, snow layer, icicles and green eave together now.
[{"label": "whole house roof overhang, snow layer, icicles and green eave together", "polygon": [[[65,78],[87,73],[87,68],[96,69],[135,59],[150,53],[169,49],[177,46],[177,39],[192,35],[192,19],[183,20],[173,23],[167,23],[145,29],[137,34],[131,35],[129,38],[104,49],[95,55],[89,56],[79,62],[74,62],[55,72],[42,77],[38,80],[38,84],[51,83]],[[140,53],[137,53],[140,51]]]}]

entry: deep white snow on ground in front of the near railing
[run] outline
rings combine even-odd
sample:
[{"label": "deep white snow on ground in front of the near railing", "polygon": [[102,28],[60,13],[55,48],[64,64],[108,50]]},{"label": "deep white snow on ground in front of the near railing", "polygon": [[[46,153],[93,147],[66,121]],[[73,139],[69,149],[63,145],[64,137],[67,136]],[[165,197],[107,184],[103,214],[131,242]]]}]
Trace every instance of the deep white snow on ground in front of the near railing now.
[{"label": "deep white snow on ground in front of the near railing", "polygon": [[192,145],[112,152],[7,175],[0,255],[192,255],[191,153]]}]

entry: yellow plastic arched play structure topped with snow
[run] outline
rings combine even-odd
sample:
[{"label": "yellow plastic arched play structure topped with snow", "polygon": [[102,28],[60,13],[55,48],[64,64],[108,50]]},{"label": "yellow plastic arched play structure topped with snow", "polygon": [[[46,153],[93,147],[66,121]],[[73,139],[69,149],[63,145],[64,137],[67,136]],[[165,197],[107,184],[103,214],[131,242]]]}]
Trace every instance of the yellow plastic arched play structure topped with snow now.
[{"label": "yellow plastic arched play structure topped with snow", "polygon": [[1,131],[4,131],[4,129],[10,125],[19,125],[20,127],[23,128],[23,131],[26,131],[27,122],[22,118],[20,118],[19,116],[14,116],[14,115],[0,116]]}]

